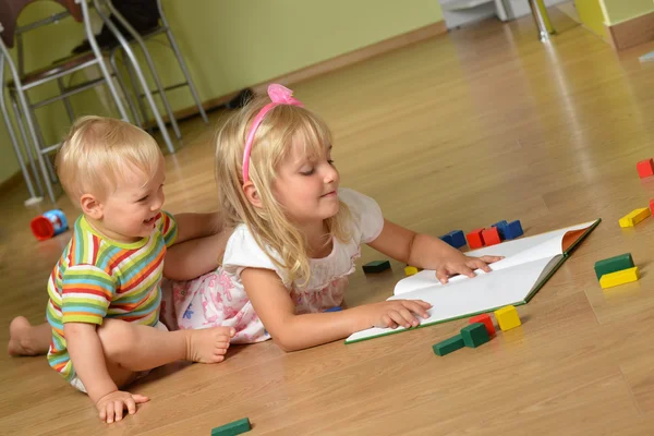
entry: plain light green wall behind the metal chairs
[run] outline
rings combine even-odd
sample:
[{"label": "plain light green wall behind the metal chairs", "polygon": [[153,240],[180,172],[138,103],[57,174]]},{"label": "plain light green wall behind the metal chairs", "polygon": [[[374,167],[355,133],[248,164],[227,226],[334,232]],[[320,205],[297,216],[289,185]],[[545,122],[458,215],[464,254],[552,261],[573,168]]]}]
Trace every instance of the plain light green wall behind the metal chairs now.
[{"label": "plain light green wall behind the metal chairs", "polygon": [[[58,8],[40,1],[21,21]],[[164,0],[164,8],[203,100],[443,20],[436,0]],[[44,64],[68,53],[81,41],[82,31],[69,20],[29,36],[31,61]],[[164,44],[150,43],[148,48],[164,82],[179,80]],[[82,78],[80,73],[74,80]],[[53,89],[37,93],[41,97]],[[170,99],[175,110],[193,105],[183,88]],[[107,112],[93,92],[75,96],[73,106],[77,114]],[[38,116],[49,141],[70,125],[61,104],[40,109]],[[5,136],[0,126],[0,181],[19,169]]]}]

